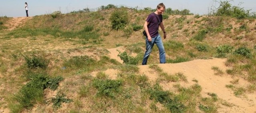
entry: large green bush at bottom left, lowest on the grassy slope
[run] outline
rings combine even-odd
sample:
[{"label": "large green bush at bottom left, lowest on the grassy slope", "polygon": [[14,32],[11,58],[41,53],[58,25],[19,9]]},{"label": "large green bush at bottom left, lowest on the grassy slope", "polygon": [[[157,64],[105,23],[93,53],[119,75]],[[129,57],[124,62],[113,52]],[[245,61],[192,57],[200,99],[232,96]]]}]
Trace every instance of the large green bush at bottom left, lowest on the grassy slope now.
[{"label": "large green bush at bottom left, lowest on the grassy slope", "polygon": [[11,111],[21,111],[24,108],[32,107],[36,102],[42,101],[44,89],[50,88],[56,90],[62,77],[50,78],[48,75],[33,74],[30,75],[30,82],[26,83],[20,91],[14,95],[14,100],[18,102],[19,109]]}]

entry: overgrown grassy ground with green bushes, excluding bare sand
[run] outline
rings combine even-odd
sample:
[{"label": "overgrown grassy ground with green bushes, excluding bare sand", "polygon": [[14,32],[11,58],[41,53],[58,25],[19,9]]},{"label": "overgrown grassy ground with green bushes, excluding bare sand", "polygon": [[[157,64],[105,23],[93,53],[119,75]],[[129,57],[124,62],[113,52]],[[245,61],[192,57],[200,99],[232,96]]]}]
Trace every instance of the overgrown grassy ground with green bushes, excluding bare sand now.
[{"label": "overgrown grassy ground with green bushes, excluding bare sand", "polygon": [[[110,19],[116,10],[126,12],[128,17],[126,26],[118,30],[112,28]],[[190,87],[178,84],[186,82],[186,76],[168,75],[155,65],[156,46],[148,59],[150,68],[158,74],[155,82],[138,72],[141,60],[130,65],[108,57],[106,49],[124,46],[127,53],[120,55],[128,57],[136,53],[138,57],[132,61],[142,59],[145,45],[141,26],[149,13],[149,10],[113,8],[56,17],[35,16],[12,31],[0,25],[0,98],[4,99],[0,101],[1,109],[8,108],[14,113],[216,113],[219,103],[232,106],[218,99],[215,93],[202,97],[202,87],[196,80]],[[168,33],[164,40],[167,63],[226,58],[226,66],[231,68],[212,67],[216,75],[228,73],[250,83],[248,87],[237,87],[238,81],[234,79],[226,86],[234,95],[255,93],[255,19],[168,14],[164,17]],[[8,19],[1,17],[0,21],[5,24]],[[103,72],[106,69],[118,70],[117,78],[110,79]],[[98,72],[96,77],[91,75],[92,71]],[[174,87],[179,93],[164,91],[159,85],[163,81],[177,82]]]}]

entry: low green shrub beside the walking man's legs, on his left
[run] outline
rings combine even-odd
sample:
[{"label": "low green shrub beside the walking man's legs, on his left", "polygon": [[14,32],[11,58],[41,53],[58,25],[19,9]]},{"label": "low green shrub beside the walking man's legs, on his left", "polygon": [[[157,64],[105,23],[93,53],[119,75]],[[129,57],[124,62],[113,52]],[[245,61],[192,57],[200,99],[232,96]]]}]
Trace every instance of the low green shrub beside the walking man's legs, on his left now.
[{"label": "low green shrub beside the walking man's legs, on his left", "polygon": [[137,65],[139,63],[139,56],[133,57],[133,56],[129,56],[127,52],[123,52],[123,53],[121,53],[120,51],[118,52],[119,54],[117,56],[122,59],[124,64]]}]

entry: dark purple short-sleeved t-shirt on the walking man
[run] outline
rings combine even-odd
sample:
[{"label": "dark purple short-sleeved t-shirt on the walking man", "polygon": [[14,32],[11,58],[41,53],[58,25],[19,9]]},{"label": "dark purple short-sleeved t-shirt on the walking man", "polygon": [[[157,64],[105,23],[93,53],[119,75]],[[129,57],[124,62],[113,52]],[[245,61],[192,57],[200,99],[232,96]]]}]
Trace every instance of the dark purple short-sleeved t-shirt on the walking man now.
[{"label": "dark purple short-sleeved t-shirt on the walking man", "polygon": [[154,12],[148,15],[147,18],[147,22],[149,22],[148,24],[148,32],[150,34],[151,37],[155,37],[158,36],[158,19],[160,21],[160,23],[163,21],[163,16],[162,14],[157,15]]}]

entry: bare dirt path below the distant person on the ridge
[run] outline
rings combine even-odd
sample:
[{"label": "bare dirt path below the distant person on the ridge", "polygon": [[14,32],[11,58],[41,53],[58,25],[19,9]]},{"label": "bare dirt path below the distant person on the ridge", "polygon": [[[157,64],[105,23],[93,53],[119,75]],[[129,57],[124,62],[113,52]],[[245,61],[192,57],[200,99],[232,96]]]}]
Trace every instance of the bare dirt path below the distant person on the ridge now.
[{"label": "bare dirt path below the distant person on the ridge", "polygon": [[27,20],[32,19],[32,17],[17,17],[17,18],[12,18],[6,26],[8,27],[8,30],[14,30],[15,28],[18,28],[20,26],[23,26],[24,23]]}]

